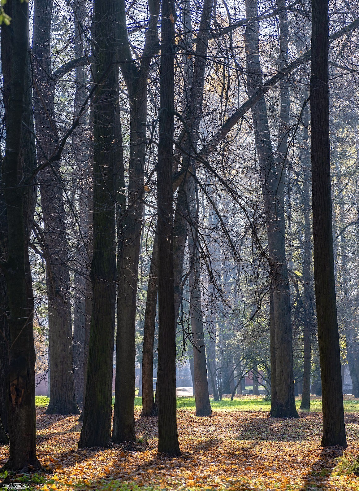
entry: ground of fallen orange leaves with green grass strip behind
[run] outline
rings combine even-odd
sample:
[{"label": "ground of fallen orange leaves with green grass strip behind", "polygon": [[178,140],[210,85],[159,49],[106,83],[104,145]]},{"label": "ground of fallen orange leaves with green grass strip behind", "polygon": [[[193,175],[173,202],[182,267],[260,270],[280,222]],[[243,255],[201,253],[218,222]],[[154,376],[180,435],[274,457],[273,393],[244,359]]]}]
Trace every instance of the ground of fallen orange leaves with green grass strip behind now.
[{"label": "ground of fallen orange leaves with green grass strip behind", "polygon": [[[300,405],[299,398],[297,407]],[[30,489],[105,491],[359,490],[359,399],[345,396],[348,448],[320,447],[321,400],[300,419],[270,419],[263,396],[213,402],[213,415],[198,418],[193,398],[178,398],[182,457],[157,458],[157,420],[140,418],[137,441],[112,449],[77,450],[77,416],[44,414],[48,399],[37,398],[37,454],[44,470],[9,476]],[[8,447],[0,446],[0,465]],[[0,478],[6,477],[0,474]],[[2,479],[1,479],[2,480]]]}]

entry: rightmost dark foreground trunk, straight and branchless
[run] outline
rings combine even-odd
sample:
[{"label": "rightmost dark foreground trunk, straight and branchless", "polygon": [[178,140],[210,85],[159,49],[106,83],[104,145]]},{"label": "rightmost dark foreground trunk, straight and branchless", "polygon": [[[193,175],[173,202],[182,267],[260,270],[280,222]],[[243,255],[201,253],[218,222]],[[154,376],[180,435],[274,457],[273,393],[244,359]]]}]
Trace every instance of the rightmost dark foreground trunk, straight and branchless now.
[{"label": "rightmost dark foreground trunk, straight and branchless", "polygon": [[347,446],[336,315],[329,141],[328,0],[312,4],[310,121],[315,299],[322,379],[322,446]]}]

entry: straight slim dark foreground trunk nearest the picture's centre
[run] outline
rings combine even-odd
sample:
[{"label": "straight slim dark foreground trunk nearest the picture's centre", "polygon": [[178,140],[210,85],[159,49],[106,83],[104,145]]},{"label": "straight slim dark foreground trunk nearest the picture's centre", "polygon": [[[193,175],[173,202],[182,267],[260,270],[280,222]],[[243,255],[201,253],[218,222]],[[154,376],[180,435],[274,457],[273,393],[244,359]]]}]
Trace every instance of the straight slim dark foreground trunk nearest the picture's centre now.
[{"label": "straight slim dark foreground trunk nearest the picture's centre", "polygon": [[162,0],[159,138],[157,167],[158,222],[158,453],[181,455],[177,433],[176,330],[173,260],[173,131],[175,25],[173,1]]}]

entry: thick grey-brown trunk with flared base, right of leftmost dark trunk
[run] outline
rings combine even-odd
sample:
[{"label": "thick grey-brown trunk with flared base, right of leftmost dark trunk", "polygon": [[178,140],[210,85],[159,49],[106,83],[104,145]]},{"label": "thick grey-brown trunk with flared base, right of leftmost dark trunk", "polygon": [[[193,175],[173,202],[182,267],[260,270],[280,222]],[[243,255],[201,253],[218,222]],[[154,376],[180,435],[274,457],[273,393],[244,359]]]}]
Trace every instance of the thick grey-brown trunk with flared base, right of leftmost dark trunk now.
[{"label": "thick grey-brown trunk with flared base, right of leftmost dark trunk", "polygon": [[[54,114],[55,81],[51,77],[52,0],[34,0],[34,116],[38,162],[44,164],[57,149]],[[70,273],[67,266],[66,215],[60,183],[60,163],[40,172],[40,194],[46,249],[46,284],[51,389],[47,414],[79,414],[73,372]]]}]

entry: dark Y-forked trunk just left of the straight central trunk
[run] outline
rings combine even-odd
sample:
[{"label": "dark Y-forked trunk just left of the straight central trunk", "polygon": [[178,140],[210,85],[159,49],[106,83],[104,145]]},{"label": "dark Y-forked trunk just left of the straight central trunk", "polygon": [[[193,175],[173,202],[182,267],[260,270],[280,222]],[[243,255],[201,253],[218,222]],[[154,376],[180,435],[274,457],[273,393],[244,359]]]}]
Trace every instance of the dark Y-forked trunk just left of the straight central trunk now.
[{"label": "dark Y-forked trunk just left of the straight central trunk", "polygon": [[[117,291],[117,348],[116,388],[112,440],[115,443],[135,439],[135,325],[143,217],[143,185],[146,153],[147,81],[152,57],[158,53],[159,0],[149,2],[150,22],[145,34],[145,46],[140,67],[134,63],[129,48],[126,28],[125,1],[119,2],[119,27],[122,75],[130,101],[130,155],[128,179],[128,207],[118,226],[118,291]],[[125,206],[124,206],[125,208]]]}]

